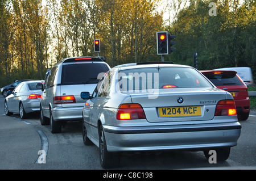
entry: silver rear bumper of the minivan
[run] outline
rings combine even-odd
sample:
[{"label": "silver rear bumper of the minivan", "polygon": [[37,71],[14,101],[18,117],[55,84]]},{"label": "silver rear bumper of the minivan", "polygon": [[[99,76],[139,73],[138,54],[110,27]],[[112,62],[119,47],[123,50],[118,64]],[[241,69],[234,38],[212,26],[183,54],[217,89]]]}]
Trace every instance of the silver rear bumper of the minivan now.
[{"label": "silver rear bumper of the minivan", "polygon": [[55,121],[82,119],[82,107],[55,107],[51,112]]}]

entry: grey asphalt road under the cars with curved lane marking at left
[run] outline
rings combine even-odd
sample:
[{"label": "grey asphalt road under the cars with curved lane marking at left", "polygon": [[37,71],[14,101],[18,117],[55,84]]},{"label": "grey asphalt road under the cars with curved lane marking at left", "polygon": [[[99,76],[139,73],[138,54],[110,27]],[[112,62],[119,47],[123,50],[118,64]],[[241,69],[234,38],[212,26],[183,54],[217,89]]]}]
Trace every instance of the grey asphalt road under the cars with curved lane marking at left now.
[{"label": "grey asphalt road under the cars with curved lane marking at left", "polygon": [[[81,122],[69,122],[62,133],[52,134],[40,124],[38,113],[26,120],[6,116],[0,96],[1,170],[101,170],[98,148],[82,142]],[[256,169],[256,112],[241,121],[238,145],[225,162],[210,164],[203,151],[166,151],[122,155],[118,170]],[[43,135],[43,136],[42,136]],[[46,150],[45,153],[39,153]],[[41,154],[39,156],[39,154]],[[46,156],[46,157],[44,157]],[[39,163],[38,163],[39,161]]]}]

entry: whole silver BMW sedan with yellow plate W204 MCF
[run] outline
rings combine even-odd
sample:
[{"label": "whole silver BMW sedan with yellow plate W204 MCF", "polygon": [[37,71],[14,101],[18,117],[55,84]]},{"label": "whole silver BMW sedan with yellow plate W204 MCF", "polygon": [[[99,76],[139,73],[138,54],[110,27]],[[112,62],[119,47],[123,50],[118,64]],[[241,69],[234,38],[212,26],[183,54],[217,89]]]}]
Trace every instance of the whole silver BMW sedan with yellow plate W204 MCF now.
[{"label": "whole silver BMW sedan with yellow plate W204 MCF", "polygon": [[225,161],[241,125],[233,96],[191,66],[150,62],[117,66],[99,81],[82,110],[85,145],[100,150],[104,168],[122,151],[216,150]]}]

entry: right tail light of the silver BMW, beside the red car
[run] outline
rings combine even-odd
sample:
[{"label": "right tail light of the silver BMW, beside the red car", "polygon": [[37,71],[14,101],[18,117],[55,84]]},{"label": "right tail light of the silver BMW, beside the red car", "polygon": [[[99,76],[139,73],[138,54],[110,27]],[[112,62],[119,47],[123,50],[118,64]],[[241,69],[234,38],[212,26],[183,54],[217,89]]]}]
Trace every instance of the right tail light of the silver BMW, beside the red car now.
[{"label": "right tail light of the silver BMW, beside the red car", "polygon": [[214,116],[231,116],[236,114],[237,110],[234,100],[220,100],[216,106]]}]

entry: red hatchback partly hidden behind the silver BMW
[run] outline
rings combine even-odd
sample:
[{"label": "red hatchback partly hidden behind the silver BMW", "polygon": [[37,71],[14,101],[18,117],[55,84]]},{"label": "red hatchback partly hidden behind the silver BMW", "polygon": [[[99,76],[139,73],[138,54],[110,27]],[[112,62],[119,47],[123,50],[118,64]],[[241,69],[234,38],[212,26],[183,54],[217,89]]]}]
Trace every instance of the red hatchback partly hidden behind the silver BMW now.
[{"label": "red hatchback partly hidden behind the silver BMW", "polygon": [[223,89],[233,95],[238,120],[246,120],[250,113],[250,99],[246,84],[237,75],[237,71],[200,70],[218,89]]}]

